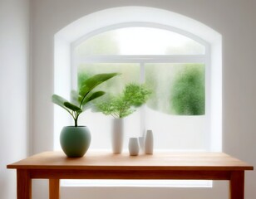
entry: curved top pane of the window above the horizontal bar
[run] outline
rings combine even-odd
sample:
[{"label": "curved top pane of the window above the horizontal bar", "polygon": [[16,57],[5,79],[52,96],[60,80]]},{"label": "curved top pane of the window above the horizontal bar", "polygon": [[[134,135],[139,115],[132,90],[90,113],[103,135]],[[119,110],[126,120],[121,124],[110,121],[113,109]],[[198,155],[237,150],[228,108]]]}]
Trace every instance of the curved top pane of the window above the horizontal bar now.
[{"label": "curved top pane of the window above the horizontal bar", "polygon": [[126,27],[91,36],[76,55],[204,55],[205,48],[187,36],[152,27]]}]

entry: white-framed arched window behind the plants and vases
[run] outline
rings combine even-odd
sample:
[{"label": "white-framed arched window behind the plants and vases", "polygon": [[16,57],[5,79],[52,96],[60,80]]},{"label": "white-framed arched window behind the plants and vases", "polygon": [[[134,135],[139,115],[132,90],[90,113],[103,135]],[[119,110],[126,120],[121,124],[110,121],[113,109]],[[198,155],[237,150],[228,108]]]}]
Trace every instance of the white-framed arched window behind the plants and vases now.
[{"label": "white-framed arched window behind the plants and vases", "polygon": [[[118,94],[129,82],[144,83],[152,90],[147,104],[125,119],[125,146],[129,137],[152,129],[155,149],[209,150],[209,114],[204,103],[209,99],[205,95],[210,79],[206,76],[209,45],[182,33],[150,23],[124,23],[91,32],[73,43],[75,88],[77,81],[79,85],[90,75],[119,72],[121,76],[104,90]],[[111,148],[111,121],[101,113],[81,115],[81,124],[93,133],[91,149]]]}]

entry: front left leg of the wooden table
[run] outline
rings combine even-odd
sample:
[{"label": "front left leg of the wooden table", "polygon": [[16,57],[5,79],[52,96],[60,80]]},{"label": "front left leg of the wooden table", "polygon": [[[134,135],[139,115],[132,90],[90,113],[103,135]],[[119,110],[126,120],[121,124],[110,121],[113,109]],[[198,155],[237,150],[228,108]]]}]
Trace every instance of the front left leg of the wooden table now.
[{"label": "front left leg of the wooden table", "polygon": [[32,179],[27,169],[17,169],[17,199],[32,199]]}]

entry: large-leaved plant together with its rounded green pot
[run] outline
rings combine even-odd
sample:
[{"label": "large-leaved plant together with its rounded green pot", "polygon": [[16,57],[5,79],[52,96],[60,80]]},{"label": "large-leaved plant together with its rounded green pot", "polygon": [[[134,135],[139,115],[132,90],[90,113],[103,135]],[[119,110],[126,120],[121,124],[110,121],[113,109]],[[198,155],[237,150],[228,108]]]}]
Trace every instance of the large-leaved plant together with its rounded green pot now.
[{"label": "large-leaved plant together with its rounded green pot", "polygon": [[86,109],[91,108],[92,100],[105,95],[104,91],[95,91],[95,88],[116,75],[118,74],[98,74],[84,80],[78,92],[71,91],[71,102],[59,95],[52,95],[52,102],[65,109],[74,119],[74,126],[64,127],[60,136],[62,150],[67,157],[82,157],[89,148],[91,133],[86,126],[78,125],[79,115]]}]

